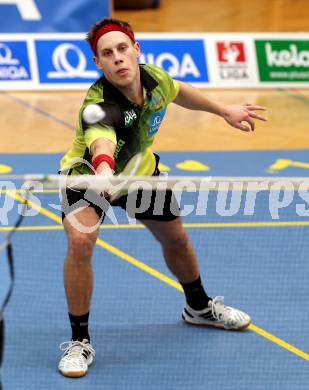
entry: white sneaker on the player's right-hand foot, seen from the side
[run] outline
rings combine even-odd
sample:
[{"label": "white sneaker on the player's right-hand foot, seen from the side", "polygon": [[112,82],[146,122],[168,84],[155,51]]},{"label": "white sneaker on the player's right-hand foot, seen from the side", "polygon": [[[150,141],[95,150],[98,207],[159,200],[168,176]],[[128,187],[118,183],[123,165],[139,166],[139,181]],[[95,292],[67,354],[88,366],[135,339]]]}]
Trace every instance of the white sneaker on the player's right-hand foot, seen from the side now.
[{"label": "white sneaker on the player's right-hand foot, seen from the side", "polygon": [[213,298],[208,307],[203,310],[193,310],[188,304],[182,312],[182,319],[188,324],[208,325],[216,328],[241,330],[247,328],[251,323],[248,314],[225,306],[223,297]]}]

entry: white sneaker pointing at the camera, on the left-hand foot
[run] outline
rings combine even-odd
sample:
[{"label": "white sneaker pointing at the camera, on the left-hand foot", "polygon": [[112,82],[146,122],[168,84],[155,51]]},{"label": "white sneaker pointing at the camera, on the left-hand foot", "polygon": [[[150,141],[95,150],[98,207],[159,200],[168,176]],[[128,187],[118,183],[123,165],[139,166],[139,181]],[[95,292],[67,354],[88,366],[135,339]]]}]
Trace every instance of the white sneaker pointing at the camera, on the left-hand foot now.
[{"label": "white sneaker pointing at the camera, on the left-hand foot", "polygon": [[60,350],[64,351],[58,365],[62,375],[71,378],[86,375],[88,367],[95,357],[95,351],[87,339],[66,341],[60,344]]}]

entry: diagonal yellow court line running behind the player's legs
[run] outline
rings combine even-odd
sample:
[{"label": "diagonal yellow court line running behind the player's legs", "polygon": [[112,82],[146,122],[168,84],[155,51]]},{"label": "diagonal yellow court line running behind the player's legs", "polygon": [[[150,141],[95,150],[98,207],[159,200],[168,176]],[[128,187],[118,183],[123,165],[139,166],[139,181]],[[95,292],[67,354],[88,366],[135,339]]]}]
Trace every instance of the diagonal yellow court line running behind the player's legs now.
[{"label": "diagonal yellow court line running behind the player's legs", "polygon": [[[15,191],[8,193],[8,195],[11,197],[14,197],[17,201],[19,201],[21,203],[25,203],[25,198],[18,195]],[[62,220],[58,215],[52,213],[49,210],[44,209],[43,207],[36,205],[35,203],[33,203],[31,201],[28,201],[28,204],[29,204],[29,206],[33,207],[35,210],[38,210],[42,215],[45,215],[48,218],[52,219],[53,221],[62,224]],[[122,260],[125,260],[126,262],[134,265],[135,267],[141,269],[142,271],[144,271],[144,272],[154,276],[155,278],[163,281],[164,283],[168,284],[169,286],[174,287],[176,290],[183,292],[181,285],[177,281],[171,279],[169,276],[162,274],[161,272],[155,270],[154,268],[144,264],[143,262],[136,259],[135,257],[130,256],[129,254],[114,247],[113,245],[107,243],[106,241],[101,240],[100,238],[97,239],[96,244],[99,245],[100,247],[102,247],[103,249],[107,250],[108,252],[121,258]],[[255,332],[256,334],[264,337],[266,340],[269,340],[269,341],[273,342],[274,344],[280,346],[281,348],[286,349],[287,351],[293,353],[294,355],[297,355],[298,357],[300,357],[306,361],[309,361],[309,354],[308,353],[302,351],[299,348],[294,347],[293,345],[287,343],[286,341],[280,339],[279,337],[272,335],[271,333],[267,332],[266,330],[254,325],[254,324],[250,324],[248,329],[250,329],[251,331]]]}]

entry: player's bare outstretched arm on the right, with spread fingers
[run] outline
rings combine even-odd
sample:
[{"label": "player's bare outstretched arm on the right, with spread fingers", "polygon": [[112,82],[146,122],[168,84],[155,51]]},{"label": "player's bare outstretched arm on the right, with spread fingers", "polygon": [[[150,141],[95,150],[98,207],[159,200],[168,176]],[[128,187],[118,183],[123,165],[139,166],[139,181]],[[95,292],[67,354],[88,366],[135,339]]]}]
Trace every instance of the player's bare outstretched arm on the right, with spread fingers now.
[{"label": "player's bare outstretched arm on the right, with spread fingers", "polygon": [[[266,121],[262,115],[255,111],[265,111],[266,108],[250,103],[224,104],[206,97],[201,91],[193,88],[190,84],[178,82],[179,92],[174,103],[190,110],[210,112],[221,116],[229,125],[242,131],[254,131],[254,119]],[[249,126],[243,124],[247,122]]]}]

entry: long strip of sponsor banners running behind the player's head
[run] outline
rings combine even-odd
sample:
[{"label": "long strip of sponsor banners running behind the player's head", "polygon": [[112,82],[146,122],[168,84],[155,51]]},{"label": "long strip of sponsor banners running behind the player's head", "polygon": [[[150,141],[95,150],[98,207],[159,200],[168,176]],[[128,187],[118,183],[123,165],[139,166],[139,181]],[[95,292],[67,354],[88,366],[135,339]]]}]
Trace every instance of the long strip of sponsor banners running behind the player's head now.
[{"label": "long strip of sponsor banners running behind the player's head", "polygon": [[[0,0],[1,1],[1,0]],[[140,63],[201,88],[309,88],[309,34],[136,34]],[[87,89],[85,33],[0,34],[3,90]]]}]

